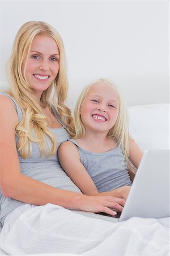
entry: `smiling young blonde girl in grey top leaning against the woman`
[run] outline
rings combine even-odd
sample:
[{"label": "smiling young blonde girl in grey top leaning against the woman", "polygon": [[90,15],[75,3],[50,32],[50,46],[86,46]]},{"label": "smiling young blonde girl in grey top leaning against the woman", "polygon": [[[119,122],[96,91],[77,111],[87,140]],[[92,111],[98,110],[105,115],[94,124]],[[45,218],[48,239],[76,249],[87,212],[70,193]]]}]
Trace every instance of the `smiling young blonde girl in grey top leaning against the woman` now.
[{"label": "smiling young blonde girl in grey top leaning against the woman", "polygon": [[131,185],[128,159],[138,168],[142,151],[129,136],[125,104],[112,81],[100,79],[84,88],[74,125],[74,139],[58,150],[63,170],[85,195],[126,199]]}]

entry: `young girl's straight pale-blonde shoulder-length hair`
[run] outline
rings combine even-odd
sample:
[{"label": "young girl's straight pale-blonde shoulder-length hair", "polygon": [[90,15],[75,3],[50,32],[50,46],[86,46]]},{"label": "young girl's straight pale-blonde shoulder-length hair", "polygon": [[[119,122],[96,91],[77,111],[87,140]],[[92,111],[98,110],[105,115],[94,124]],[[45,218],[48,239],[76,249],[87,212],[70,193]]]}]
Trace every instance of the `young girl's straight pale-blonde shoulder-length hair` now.
[{"label": "young girl's straight pale-blonde shoulder-length hair", "polygon": [[116,120],[116,123],[114,126],[109,130],[107,136],[113,137],[116,139],[117,143],[121,145],[122,151],[125,156],[126,162],[128,162],[128,156],[129,156],[129,121],[128,121],[128,112],[127,108],[125,105],[125,101],[122,98],[122,94],[120,90],[117,88],[117,86],[109,79],[99,79],[91,84],[87,85],[82,93],[80,93],[80,96],[78,98],[78,101],[76,102],[75,105],[75,110],[74,110],[74,129],[75,129],[75,136],[73,137],[74,139],[76,138],[82,138],[85,134],[85,127],[82,123],[82,119],[80,118],[80,108],[83,104],[83,101],[85,100],[88,90],[91,88],[92,85],[96,84],[97,82],[102,82],[105,85],[108,85],[111,87],[114,92],[117,93],[118,101],[119,101],[119,112],[118,112],[118,117]]}]

